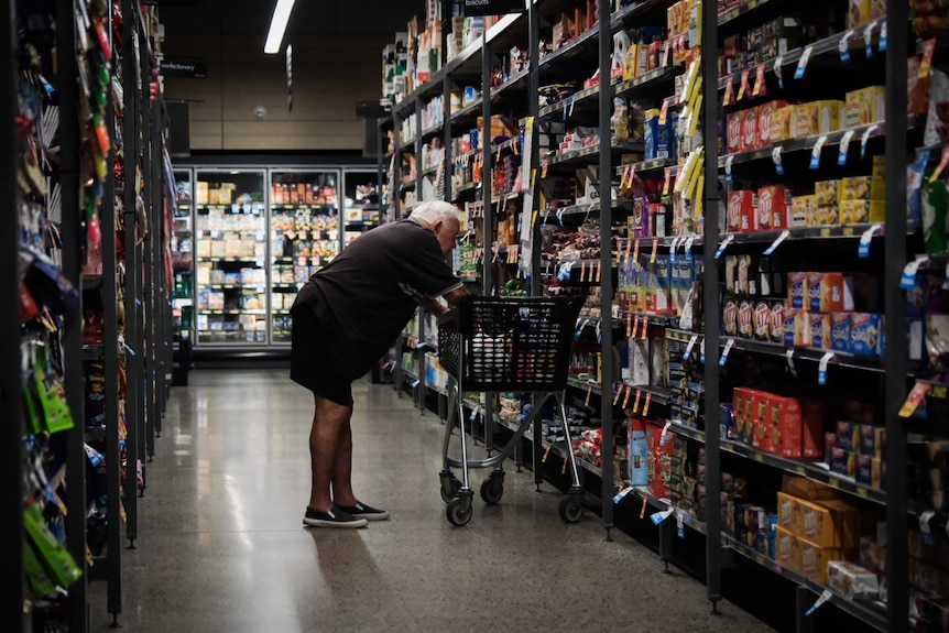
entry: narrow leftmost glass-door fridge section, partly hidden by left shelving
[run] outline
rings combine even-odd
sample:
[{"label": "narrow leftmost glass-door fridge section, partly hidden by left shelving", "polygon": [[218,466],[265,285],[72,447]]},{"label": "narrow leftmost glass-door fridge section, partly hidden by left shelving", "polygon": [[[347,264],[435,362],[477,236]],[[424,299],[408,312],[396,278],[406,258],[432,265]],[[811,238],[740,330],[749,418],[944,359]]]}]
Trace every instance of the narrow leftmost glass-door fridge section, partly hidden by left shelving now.
[{"label": "narrow leftmost glass-door fridge section, partly hidden by left shelving", "polygon": [[174,227],[171,236],[172,269],[175,284],[172,290],[174,319],[175,367],[190,367],[190,347],[195,326],[194,275],[194,182],[190,170],[175,170]]}]

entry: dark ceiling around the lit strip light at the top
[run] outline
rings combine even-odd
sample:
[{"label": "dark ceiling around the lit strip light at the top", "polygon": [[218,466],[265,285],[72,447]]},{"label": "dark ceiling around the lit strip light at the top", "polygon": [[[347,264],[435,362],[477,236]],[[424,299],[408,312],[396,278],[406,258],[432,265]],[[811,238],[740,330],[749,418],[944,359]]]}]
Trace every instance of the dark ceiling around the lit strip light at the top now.
[{"label": "dark ceiling around the lit strip light at the top", "polygon": [[[276,0],[160,0],[166,35],[225,34],[266,39]],[[425,0],[296,0],[287,37],[394,35],[425,11]]]}]

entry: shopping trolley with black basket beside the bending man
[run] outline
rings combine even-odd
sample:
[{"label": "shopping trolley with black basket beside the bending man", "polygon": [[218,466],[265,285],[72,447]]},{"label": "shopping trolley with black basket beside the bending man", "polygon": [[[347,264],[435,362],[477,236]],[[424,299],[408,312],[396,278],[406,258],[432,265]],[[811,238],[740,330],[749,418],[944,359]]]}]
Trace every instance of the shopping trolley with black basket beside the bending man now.
[{"label": "shopping trolley with black basket beside the bending man", "polygon": [[[448,385],[448,419],[443,447],[444,467],[440,472],[441,499],[448,504],[446,514],[452,525],[466,525],[471,520],[473,492],[468,479],[469,468],[491,468],[481,484],[481,499],[498,503],[504,493],[504,459],[532,424],[535,444],[539,439],[541,413],[555,401],[567,440],[567,457],[571,485],[560,500],[560,519],[575,523],[583,510],[572,441],[564,407],[564,390],[570,361],[577,317],[583,297],[483,297],[467,296],[443,319],[438,328],[438,360],[455,379]],[[533,408],[521,417],[520,426],[501,451],[487,459],[468,458],[466,416],[461,394],[466,392],[519,392],[534,396]],[[461,459],[448,457],[456,422],[460,425]],[[536,454],[536,446],[535,446]],[[489,454],[490,455],[490,454]],[[461,469],[461,480],[451,472]],[[535,465],[535,473],[538,477]]]}]

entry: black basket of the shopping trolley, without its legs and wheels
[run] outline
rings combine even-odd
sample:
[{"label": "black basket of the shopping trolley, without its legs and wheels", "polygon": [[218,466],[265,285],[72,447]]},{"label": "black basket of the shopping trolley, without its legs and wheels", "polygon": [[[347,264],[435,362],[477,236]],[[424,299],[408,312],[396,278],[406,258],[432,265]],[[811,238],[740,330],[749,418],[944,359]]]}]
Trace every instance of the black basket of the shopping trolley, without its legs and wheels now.
[{"label": "black basket of the shopping trolley, without its legs and wheels", "polygon": [[467,296],[438,328],[438,361],[463,391],[555,392],[567,386],[583,297]]}]

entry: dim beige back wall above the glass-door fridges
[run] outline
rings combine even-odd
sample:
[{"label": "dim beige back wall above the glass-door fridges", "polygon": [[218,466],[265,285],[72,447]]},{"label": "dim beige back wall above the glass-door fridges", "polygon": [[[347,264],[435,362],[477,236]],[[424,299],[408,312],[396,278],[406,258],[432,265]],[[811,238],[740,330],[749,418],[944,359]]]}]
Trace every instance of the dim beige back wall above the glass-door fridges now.
[{"label": "dim beige back wall above the glass-door fridges", "polygon": [[[168,32],[170,56],[206,62],[207,77],[165,77],[165,98],[190,103],[192,150],[358,151],[362,122],[356,103],[379,99],[382,47],[391,39],[295,39],[287,111],[284,54],[261,54],[259,39]],[[265,116],[258,116],[259,107]]]}]

